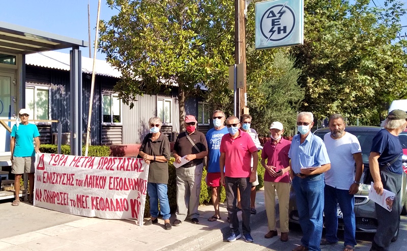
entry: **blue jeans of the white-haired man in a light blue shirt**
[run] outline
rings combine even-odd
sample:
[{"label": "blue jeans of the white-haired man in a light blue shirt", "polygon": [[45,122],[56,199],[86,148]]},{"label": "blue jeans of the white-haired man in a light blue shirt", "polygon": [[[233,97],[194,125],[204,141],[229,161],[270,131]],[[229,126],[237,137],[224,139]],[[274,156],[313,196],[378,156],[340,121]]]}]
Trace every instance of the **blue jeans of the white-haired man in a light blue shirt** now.
[{"label": "blue jeans of the white-haired man in a light blue shirt", "polygon": [[309,250],[320,251],[324,212],[325,174],[311,175],[303,179],[295,176],[293,188],[296,192],[297,209],[302,229],[302,245]]}]

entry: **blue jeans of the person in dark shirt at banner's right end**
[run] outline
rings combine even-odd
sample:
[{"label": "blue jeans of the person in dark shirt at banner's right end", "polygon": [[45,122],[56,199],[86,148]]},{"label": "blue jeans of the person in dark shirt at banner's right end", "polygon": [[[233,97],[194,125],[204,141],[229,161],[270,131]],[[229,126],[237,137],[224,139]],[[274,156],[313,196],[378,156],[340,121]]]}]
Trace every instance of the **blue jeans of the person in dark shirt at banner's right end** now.
[{"label": "blue jeans of the person in dark shirt at banner's right end", "polygon": [[150,197],[150,214],[151,217],[158,217],[158,200],[160,200],[160,211],[162,219],[169,219],[169,202],[167,195],[167,184],[147,183],[147,192]]}]

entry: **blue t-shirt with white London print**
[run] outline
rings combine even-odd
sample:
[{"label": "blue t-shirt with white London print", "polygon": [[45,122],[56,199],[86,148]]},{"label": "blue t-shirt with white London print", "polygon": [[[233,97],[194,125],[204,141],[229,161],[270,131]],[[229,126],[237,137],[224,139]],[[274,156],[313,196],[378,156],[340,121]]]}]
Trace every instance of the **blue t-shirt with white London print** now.
[{"label": "blue t-shirt with white London print", "polygon": [[227,128],[220,130],[212,128],[207,132],[207,143],[209,150],[208,173],[219,173],[220,142],[223,135],[227,134]]}]

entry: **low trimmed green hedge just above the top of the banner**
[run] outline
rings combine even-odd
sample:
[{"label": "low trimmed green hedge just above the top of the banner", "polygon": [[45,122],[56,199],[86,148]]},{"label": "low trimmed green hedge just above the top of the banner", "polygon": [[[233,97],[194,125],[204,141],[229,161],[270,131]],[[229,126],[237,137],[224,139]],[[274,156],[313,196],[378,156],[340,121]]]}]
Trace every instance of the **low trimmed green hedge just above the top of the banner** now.
[{"label": "low trimmed green hedge just above the top of the banner", "polygon": [[[42,153],[57,153],[58,148],[56,145],[41,144],[40,152]],[[61,154],[70,155],[71,147],[61,145]],[[82,147],[82,155],[85,155],[85,147]],[[91,157],[107,157],[110,155],[110,148],[108,146],[89,146],[88,156]]]}]

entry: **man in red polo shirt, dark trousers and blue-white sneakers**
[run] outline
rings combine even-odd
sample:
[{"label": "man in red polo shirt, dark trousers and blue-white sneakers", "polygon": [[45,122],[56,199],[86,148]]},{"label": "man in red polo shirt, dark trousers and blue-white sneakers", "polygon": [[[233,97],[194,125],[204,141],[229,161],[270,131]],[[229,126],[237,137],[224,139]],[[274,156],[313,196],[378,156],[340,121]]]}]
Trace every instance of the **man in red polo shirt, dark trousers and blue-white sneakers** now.
[{"label": "man in red polo shirt, dark trousers and blue-white sneakers", "polygon": [[[232,242],[242,235],[239,231],[236,199],[238,188],[240,190],[242,205],[242,230],[246,242],[253,242],[250,235],[250,191],[251,182],[256,180],[257,147],[251,136],[240,130],[240,121],[231,116],[226,120],[228,134],[223,135],[220,143],[220,182],[226,188],[227,212],[230,218],[230,236]],[[251,157],[253,156],[253,170],[251,170]],[[223,171],[223,166],[225,170]]]}]

